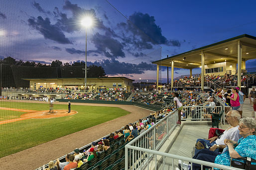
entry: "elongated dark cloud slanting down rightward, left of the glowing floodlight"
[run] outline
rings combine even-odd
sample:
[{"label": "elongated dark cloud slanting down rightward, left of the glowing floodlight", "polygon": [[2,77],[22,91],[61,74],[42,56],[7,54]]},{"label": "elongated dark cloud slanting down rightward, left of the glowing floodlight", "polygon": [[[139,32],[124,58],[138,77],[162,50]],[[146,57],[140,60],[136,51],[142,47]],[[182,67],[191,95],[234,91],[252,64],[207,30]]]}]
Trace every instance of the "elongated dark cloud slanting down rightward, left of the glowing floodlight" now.
[{"label": "elongated dark cloud slanting down rightward, left of the glowing floodlight", "polygon": [[37,19],[32,17],[27,21],[28,24],[32,28],[38,30],[45,39],[50,39],[60,44],[73,44],[68,38],[65,37],[58,26],[51,24],[49,18],[43,19],[41,16],[38,16]]}]

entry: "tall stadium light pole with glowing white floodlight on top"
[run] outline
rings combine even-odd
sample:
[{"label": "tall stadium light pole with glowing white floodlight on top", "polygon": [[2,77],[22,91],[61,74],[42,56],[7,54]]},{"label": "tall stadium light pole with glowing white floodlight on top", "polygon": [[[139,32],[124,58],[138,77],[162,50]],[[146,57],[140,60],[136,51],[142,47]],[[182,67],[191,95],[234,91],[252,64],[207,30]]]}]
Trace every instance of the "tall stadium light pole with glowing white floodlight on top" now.
[{"label": "tall stadium light pole with glowing white floodlight on top", "polygon": [[93,25],[91,17],[86,16],[81,20],[81,25],[85,27],[85,93],[87,89],[87,29]]}]

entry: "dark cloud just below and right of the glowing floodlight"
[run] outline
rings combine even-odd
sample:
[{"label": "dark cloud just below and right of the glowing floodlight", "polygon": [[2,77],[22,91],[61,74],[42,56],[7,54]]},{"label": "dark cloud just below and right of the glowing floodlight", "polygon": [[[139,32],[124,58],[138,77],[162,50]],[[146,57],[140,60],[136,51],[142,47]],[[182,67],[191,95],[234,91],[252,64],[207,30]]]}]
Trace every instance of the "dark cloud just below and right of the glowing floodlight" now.
[{"label": "dark cloud just below and right of the glowing floodlight", "polygon": [[125,57],[123,44],[118,40],[113,39],[110,35],[101,35],[100,33],[96,33],[91,41],[95,44],[97,53],[103,53],[109,58]]}]

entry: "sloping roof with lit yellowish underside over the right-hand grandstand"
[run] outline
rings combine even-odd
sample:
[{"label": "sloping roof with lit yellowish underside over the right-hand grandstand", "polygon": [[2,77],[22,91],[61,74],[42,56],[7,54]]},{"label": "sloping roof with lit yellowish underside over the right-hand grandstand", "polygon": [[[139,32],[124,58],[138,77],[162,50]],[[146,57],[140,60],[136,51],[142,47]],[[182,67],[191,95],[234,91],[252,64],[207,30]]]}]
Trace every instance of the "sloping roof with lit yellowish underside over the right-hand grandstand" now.
[{"label": "sloping roof with lit yellowish underside over the right-hand grandstand", "polygon": [[186,69],[197,68],[201,65],[201,52],[205,54],[205,64],[207,65],[225,61],[237,63],[238,40],[240,40],[242,44],[242,59],[255,59],[256,37],[244,34],[195,50],[181,53],[179,55],[153,61],[152,63],[170,67],[170,62],[173,60],[174,67]]}]

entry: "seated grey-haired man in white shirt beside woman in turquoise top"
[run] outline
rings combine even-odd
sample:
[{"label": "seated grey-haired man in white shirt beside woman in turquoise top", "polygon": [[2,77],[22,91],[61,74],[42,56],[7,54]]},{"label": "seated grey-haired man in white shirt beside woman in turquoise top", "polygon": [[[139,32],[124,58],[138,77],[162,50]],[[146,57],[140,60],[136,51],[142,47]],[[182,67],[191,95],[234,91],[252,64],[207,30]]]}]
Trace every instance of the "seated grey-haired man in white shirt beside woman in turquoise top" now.
[{"label": "seated grey-haired man in white shirt beside woman in turquoise top", "polygon": [[[205,149],[209,149],[211,151],[216,151],[217,153],[219,153],[219,149],[223,149],[226,147],[226,145],[224,144],[225,139],[238,141],[241,138],[238,130],[240,113],[238,111],[230,111],[227,113],[226,119],[231,126],[227,130],[225,130],[221,136],[215,136],[210,139],[197,139],[197,144],[199,144],[199,146],[202,144],[202,146],[206,146]],[[195,155],[198,151],[199,148],[198,145],[196,145]]]}]

